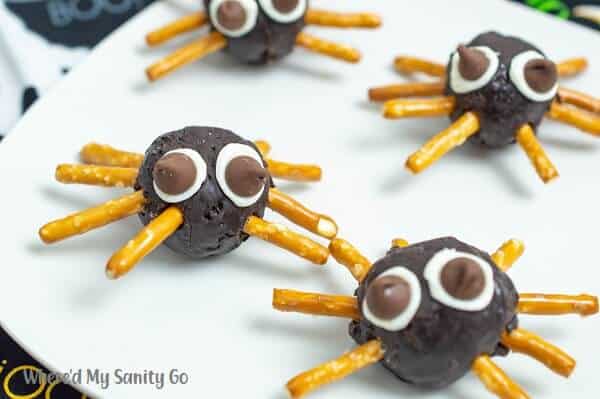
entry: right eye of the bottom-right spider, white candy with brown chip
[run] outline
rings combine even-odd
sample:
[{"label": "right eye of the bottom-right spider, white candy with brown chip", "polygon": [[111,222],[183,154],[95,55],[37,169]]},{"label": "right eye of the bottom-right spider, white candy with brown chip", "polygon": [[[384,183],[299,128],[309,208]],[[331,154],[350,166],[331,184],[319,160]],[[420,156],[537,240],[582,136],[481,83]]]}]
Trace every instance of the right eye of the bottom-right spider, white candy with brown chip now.
[{"label": "right eye of the bottom-right spider, white candy with brown chip", "polygon": [[494,296],[492,267],[466,252],[439,251],[425,266],[423,276],[433,299],[457,310],[482,310]]}]

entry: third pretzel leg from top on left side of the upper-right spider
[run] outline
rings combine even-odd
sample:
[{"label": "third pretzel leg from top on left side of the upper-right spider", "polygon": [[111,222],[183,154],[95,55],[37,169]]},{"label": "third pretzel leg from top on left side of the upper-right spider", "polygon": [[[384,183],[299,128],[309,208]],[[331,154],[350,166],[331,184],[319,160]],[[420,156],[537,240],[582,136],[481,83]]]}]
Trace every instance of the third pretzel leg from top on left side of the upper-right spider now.
[{"label": "third pretzel leg from top on left side of the upper-right spider", "polygon": [[454,110],[454,97],[399,99],[383,104],[383,116],[389,119],[445,116]]}]

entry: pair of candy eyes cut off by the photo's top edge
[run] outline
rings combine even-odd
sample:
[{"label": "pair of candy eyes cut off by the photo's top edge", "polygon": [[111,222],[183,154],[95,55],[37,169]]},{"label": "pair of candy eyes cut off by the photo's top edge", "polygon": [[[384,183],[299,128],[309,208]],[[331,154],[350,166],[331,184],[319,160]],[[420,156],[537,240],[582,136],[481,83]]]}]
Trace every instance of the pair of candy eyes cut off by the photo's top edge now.
[{"label": "pair of candy eyes cut off by the photo's top edge", "polygon": [[307,0],[213,0],[210,19],[219,32],[240,37],[256,26],[259,4],[273,21],[287,24],[304,16]]}]

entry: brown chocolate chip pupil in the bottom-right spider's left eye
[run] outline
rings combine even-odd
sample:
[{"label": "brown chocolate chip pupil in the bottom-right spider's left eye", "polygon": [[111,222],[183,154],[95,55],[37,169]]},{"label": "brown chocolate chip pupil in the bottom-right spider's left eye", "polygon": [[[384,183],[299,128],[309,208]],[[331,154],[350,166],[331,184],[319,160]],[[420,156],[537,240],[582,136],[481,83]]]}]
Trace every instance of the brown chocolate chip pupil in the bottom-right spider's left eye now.
[{"label": "brown chocolate chip pupil in the bottom-right spider's left eye", "polygon": [[398,276],[383,276],[367,289],[366,301],[375,316],[391,320],[402,314],[410,303],[410,285]]}]

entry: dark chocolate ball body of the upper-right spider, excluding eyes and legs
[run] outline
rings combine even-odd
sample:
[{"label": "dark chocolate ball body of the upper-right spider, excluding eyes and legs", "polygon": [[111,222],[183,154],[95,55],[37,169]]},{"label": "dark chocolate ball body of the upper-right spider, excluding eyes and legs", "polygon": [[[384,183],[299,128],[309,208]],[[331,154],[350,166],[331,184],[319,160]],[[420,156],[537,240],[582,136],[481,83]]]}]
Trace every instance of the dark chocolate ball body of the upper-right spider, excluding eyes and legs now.
[{"label": "dark chocolate ball body of the upper-right spider, excluding eyes and legs", "polygon": [[[534,50],[542,51],[517,37],[503,36],[496,32],[487,32],[477,36],[467,47],[486,46],[499,53],[500,65],[492,80],[470,93],[455,93],[449,84],[446,94],[456,97],[456,107],[450,119],[460,118],[467,111],[479,116],[481,128],[470,137],[470,141],[489,147],[501,147],[515,142],[517,130],[529,123],[534,131],[550,108],[551,101],[536,102],[523,96],[511,82],[508,72],[510,62],[516,55]],[[447,81],[450,79],[448,64]]]}]

